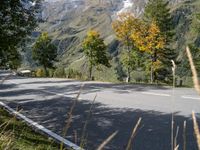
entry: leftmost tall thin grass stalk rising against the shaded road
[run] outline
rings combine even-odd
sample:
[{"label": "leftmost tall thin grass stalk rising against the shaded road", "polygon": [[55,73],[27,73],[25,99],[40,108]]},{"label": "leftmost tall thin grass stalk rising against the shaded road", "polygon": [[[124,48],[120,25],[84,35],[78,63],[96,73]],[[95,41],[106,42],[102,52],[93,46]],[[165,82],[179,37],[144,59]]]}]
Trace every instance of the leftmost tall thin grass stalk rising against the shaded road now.
[{"label": "leftmost tall thin grass stalk rising against the shaded road", "polygon": [[[78,101],[78,99],[80,97],[80,94],[81,94],[81,91],[82,91],[83,87],[84,87],[84,84],[81,85],[81,88],[80,88],[75,100],[73,101],[73,104],[72,104],[72,106],[70,108],[70,111],[69,111],[69,113],[67,115],[66,126],[64,127],[64,130],[63,130],[63,137],[64,138],[67,135],[68,129],[70,128],[70,125],[71,125],[71,122],[72,122],[73,111],[74,111],[74,108],[75,108],[75,106],[77,104],[77,101]],[[63,141],[60,143],[60,150],[63,150]]]}]

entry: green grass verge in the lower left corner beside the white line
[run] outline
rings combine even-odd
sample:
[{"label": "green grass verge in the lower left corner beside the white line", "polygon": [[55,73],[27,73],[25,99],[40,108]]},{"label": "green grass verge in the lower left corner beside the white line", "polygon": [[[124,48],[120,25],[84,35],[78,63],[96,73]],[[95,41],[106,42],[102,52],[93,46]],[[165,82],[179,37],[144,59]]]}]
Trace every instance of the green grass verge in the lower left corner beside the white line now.
[{"label": "green grass verge in the lower left corner beside the white line", "polygon": [[2,150],[57,150],[59,144],[35,132],[23,121],[0,108],[0,149]]}]

